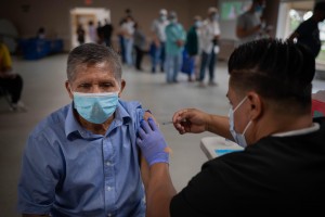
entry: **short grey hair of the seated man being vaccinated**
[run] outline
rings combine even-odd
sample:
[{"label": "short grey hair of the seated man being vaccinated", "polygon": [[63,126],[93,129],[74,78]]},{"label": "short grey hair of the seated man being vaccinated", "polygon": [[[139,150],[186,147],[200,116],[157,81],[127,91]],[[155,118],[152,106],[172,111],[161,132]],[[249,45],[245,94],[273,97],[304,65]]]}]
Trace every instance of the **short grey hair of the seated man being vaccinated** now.
[{"label": "short grey hair of the seated man being vaccinated", "polygon": [[73,49],[67,60],[67,79],[73,81],[80,66],[93,66],[107,63],[115,79],[121,81],[120,56],[112,48],[98,43],[83,43]]}]

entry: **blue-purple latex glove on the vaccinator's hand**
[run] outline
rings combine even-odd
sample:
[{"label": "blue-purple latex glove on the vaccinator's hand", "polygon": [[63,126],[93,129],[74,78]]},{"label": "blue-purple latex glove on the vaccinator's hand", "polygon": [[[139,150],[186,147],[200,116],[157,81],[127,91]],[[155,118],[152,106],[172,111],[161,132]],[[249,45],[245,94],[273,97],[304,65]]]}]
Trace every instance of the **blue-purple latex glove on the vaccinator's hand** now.
[{"label": "blue-purple latex glove on the vaccinator's hand", "polygon": [[150,166],[156,163],[169,163],[168,146],[165,138],[153,118],[141,120],[136,144]]}]

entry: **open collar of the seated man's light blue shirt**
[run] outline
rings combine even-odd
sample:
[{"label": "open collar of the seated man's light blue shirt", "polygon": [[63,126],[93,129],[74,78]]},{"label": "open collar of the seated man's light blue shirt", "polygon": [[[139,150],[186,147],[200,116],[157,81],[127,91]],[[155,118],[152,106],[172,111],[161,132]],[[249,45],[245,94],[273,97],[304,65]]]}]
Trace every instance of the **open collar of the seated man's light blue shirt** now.
[{"label": "open collar of the seated man's light blue shirt", "polygon": [[[126,108],[120,104],[118,101],[117,107],[115,111],[115,118],[112,122],[113,126],[109,126],[109,129],[113,129],[113,127],[118,127],[121,125],[128,125],[131,123],[131,117],[129,113],[126,111]],[[74,115],[74,102],[69,104],[68,113],[65,119],[65,136],[68,138],[72,133],[77,132],[80,136],[83,136],[87,130],[80,126],[78,120],[76,119]]]}]

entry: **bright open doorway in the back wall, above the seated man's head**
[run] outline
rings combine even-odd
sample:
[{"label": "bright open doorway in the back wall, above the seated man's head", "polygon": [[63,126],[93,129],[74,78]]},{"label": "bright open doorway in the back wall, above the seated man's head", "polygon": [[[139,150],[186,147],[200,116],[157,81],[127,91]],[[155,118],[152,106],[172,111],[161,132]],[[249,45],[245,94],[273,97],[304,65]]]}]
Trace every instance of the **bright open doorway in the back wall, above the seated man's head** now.
[{"label": "bright open doorway in the back wall, above the seated man's head", "polygon": [[101,24],[105,23],[105,20],[110,22],[110,11],[104,8],[100,9],[90,9],[90,8],[76,8],[70,10],[70,41],[72,41],[72,49],[79,46],[77,40],[77,27],[81,25],[84,29],[84,42],[90,42],[89,37],[89,22],[93,22],[94,26],[98,26],[98,23]]}]

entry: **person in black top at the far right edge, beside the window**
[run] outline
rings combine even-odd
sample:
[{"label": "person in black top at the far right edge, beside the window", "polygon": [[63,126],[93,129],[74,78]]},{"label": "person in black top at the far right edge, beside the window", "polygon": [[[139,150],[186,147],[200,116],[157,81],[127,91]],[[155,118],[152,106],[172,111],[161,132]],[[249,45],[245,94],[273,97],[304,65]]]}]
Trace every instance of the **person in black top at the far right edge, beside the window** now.
[{"label": "person in black top at the far right edge, beside the window", "polygon": [[290,35],[288,40],[297,39],[297,43],[301,43],[311,49],[314,58],[321,51],[322,42],[320,39],[318,23],[325,20],[325,1],[316,2],[313,15],[302,22],[298,28]]}]

